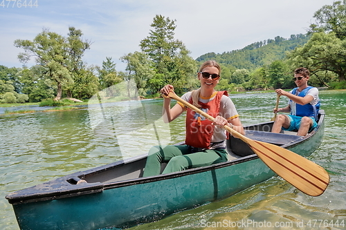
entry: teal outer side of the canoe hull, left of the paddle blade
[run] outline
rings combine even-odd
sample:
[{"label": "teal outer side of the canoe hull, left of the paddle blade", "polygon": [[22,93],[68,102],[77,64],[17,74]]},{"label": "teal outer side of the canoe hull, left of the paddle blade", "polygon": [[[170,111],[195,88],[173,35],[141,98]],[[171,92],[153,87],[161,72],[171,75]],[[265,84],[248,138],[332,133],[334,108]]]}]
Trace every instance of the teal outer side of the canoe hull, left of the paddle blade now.
[{"label": "teal outer side of the canoe hull, left of the paddle blade", "polygon": [[200,173],[13,207],[23,230],[131,227],[227,198],[275,175],[260,159],[248,158],[242,164]]}]

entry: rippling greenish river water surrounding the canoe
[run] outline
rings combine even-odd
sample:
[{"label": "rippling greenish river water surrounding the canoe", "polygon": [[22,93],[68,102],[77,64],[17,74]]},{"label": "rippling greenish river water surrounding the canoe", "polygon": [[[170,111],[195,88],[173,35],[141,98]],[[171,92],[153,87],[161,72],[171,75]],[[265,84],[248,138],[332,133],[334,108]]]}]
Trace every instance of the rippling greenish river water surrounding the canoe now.
[{"label": "rippling greenish river water surrounding the canoe", "polygon": [[[230,98],[244,125],[273,117],[274,93]],[[346,229],[346,90],[320,91],[320,99],[326,112],[325,136],[309,160],[329,172],[325,193],[310,197],[273,177],[225,200],[131,229]],[[282,98],[280,106],[286,102]],[[184,139],[183,116],[171,124],[160,122],[161,99],[97,108],[91,104],[73,111],[14,115],[1,114],[0,108],[1,230],[19,229],[5,199],[12,191],[146,153],[154,144]]]}]

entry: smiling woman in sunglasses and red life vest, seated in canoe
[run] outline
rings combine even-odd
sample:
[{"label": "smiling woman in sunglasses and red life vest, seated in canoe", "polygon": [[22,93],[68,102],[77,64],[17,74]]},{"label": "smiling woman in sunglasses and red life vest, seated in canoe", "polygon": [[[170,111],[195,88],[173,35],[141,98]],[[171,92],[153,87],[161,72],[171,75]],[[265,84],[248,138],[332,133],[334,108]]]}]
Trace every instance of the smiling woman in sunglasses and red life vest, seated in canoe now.
[{"label": "smiling woman in sunglasses and red life vest, seated in canoe", "polygon": [[165,122],[172,122],[184,111],[187,112],[185,145],[150,148],[143,177],[160,174],[163,162],[166,162],[167,166],[162,173],[171,173],[227,161],[224,125],[242,134],[244,134],[244,128],[227,92],[215,91],[220,73],[221,68],[216,61],[204,62],[197,74],[201,88],[185,93],[181,97],[215,117],[214,122],[210,122],[180,102],[171,108],[171,99],[165,95],[174,90],[174,87],[166,85],[161,89],[161,95],[164,97],[163,119]]}]

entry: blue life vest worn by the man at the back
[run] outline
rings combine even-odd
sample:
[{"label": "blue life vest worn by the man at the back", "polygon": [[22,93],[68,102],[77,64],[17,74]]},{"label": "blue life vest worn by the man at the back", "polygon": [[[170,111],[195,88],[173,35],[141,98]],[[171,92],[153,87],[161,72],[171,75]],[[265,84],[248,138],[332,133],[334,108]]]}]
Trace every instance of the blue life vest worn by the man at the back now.
[{"label": "blue life vest worn by the man at the back", "polygon": [[[302,92],[298,94],[298,97],[305,97],[307,92],[313,88],[312,86],[307,86],[304,88]],[[292,94],[296,95],[298,90],[297,88],[293,88]],[[293,102],[291,99],[289,100],[289,104],[291,105],[291,115],[299,116],[299,117],[313,117],[316,122],[318,121],[318,111],[320,110],[320,101],[316,105],[311,105],[310,103],[304,104],[304,106]],[[295,108],[293,108],[295,106]]]}]

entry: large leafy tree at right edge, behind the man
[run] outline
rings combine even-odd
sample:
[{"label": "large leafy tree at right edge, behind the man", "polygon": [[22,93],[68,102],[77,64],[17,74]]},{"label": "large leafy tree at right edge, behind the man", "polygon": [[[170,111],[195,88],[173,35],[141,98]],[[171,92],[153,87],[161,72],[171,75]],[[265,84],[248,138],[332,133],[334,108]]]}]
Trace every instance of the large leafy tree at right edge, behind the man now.
[{"label": "large leafy tree at right edge, behind the man", "polygon": [[310,82],[316,86],[329,87],[335,76],[339,82],[345,82],[346,0],[323,6],[313,17],[316,23],[310,25],[311,39],[289,52],[289,62],[309,68]]}]

